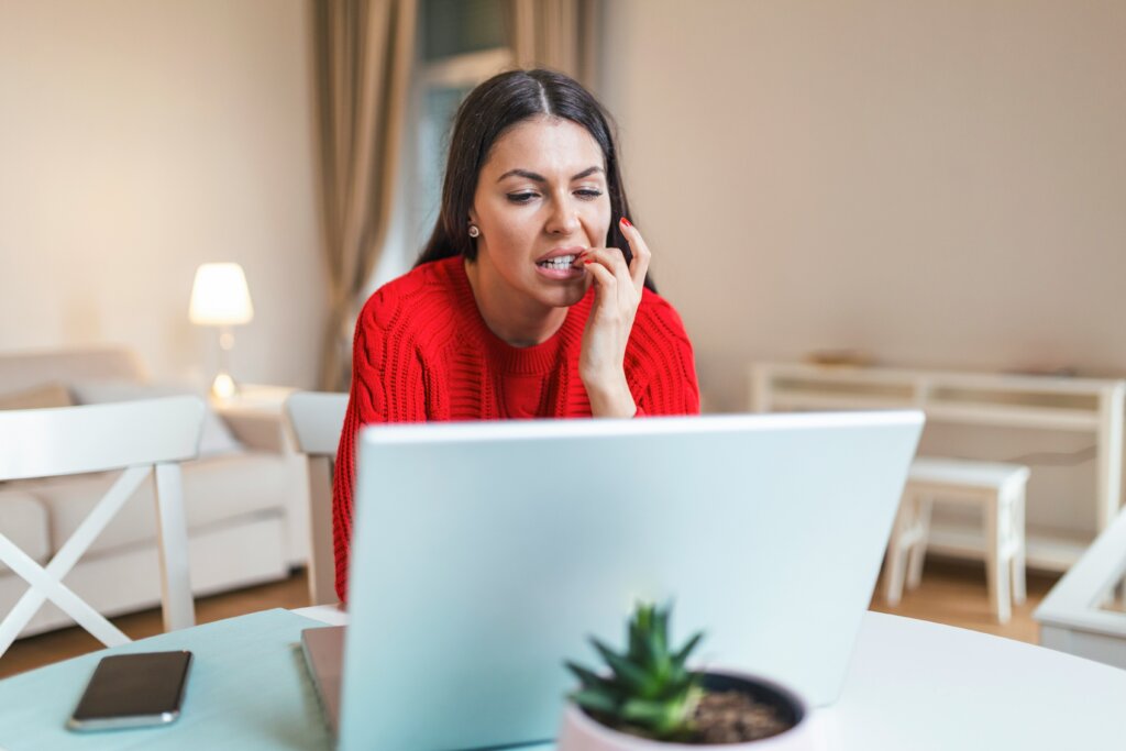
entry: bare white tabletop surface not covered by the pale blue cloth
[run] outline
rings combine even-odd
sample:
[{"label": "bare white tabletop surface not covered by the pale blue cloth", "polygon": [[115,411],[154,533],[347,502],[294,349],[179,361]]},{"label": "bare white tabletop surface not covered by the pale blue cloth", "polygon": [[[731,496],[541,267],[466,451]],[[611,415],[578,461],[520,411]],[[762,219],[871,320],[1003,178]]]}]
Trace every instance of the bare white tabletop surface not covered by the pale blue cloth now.
[{"label": "bare white tabletop surface not covered by the pale blue cloth", "polygon": [[[295,613],[347,623],[333,606]],[[833,751],[1096,751],[1126,748],[1124,714],[1126,670],[867,613],[840,699],[813,719]]]}]

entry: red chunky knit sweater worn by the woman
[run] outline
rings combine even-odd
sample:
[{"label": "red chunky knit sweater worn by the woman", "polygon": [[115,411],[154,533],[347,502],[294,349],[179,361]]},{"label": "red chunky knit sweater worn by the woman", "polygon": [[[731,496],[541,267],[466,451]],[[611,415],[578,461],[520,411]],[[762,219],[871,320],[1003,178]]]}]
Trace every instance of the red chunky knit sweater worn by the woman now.
[{"label": "red chunky knit sweater worn by the woman", "polygon": [[[332,493],[341,600],[347,599],[359,428],[369,422],[590,417],[579,352],[593,299],[591,288],[547,341],[519,348],[485,325],[461,257],[425,263],[372,295],[356,323],[351,394]],[[692,349],[680,316],[649,289],[629,334],[625,374],[637,414],[699,412]]]}]

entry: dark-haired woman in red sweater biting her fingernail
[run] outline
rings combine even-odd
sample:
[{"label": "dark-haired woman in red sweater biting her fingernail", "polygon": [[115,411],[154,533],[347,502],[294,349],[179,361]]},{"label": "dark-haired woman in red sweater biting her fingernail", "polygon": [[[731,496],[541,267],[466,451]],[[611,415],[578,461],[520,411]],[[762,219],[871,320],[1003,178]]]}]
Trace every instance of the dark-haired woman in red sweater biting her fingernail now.
[{"label": "dark-haired woman in red sweater biting her fingernail", "polygon": [[699,412],[691,345],[627,215],[607,117],[579,83],[512,71],[462,104],[434,233],[356,324],[333,489],[341,600],[360,426]]}]

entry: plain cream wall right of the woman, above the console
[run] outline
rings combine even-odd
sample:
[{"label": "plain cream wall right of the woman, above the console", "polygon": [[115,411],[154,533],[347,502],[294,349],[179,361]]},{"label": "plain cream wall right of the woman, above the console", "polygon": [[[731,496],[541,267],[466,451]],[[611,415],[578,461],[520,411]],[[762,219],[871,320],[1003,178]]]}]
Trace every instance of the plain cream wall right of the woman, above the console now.
[{"label": "plain cream wall right of the woman, above the console", "polygon": [[602,95],[714,409],[821,348],[1126,373],[1126,3],[608,6]]}]

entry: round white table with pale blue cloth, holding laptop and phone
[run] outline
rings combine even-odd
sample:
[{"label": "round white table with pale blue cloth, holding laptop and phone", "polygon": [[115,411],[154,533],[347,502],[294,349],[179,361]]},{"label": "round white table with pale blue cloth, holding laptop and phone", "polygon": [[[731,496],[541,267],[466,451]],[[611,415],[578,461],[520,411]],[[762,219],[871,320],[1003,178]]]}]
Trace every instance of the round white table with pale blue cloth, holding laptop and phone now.
[{"label": "round white table with pale blue cloth, holding laptop and phone", "polygon": [[[298,615],[323,623],[331,606]],[[0,681],[0,746],[329,751],[295,644],[309,622],[270,610],[161,634],[114,652],[196,654],[185,716],[167,728],[69,733],[66,716],[105,652]],[[843,692],[813,722],[826,751],[1123,749],[1126,671],[949,626],[869,613]],[[562,710],[562,705],[560,707]],[[551,745],[524,746],[549,751]]]}]

